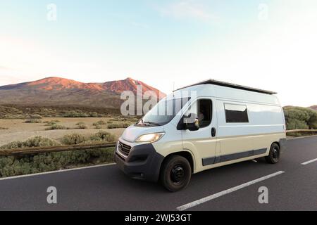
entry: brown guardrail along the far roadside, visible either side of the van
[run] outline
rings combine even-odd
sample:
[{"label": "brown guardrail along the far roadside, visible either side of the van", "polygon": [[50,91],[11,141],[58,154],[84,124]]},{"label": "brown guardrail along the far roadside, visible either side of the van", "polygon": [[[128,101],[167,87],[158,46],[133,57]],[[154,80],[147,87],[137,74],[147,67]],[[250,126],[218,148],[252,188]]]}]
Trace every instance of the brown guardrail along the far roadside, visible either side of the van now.
[{"label": "brown guardrail along the far roadside, visible either side of the van", "polygon": [[[317,129],[293,129],[288,130],[286,133],[294,132],[317,132]],[[17,149],[0,149],[1,156],[22,156],[22,155],[37,155],[40,153],[58,153],[70,150],[89,150],[97,148],[111,148],[115,147],[116,143],[104,143],[95,145],[73,145],[73,146],[54,146],[54,147],[37,147],[37,148],[17,148]]]}]

